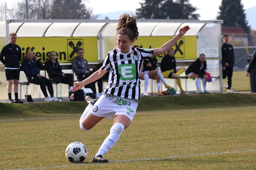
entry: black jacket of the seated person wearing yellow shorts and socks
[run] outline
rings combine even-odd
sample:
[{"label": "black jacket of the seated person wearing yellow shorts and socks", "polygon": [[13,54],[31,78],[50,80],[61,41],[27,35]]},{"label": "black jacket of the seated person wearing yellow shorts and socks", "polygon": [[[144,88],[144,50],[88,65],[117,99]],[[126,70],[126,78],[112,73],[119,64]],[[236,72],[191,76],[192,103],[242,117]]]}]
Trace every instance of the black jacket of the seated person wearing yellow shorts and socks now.
[{"label": "black jacket of the seated person wearing yellow shorts and socks", "polygon": [[168,54],[165,55],[161,61],[161,71],[168,71],[174,70],[174,73],[177,72],[176,70],[176,60],[174,56],[169,56]]}]

